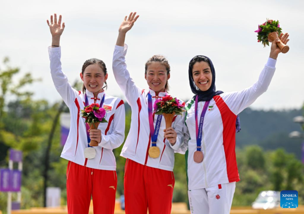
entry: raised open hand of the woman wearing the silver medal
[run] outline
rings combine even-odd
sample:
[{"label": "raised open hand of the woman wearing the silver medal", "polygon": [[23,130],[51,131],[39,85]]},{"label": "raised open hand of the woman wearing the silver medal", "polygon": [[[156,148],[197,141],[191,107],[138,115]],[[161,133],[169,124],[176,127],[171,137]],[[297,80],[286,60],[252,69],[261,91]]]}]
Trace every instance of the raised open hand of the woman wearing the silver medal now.
[{"label": "raised open hand of the woman wearing the silver medal", "polygon": [[51,23],[47,20],[47,23],[50,27],[50,31],[52,34],[52,46],[59,46],[60,36],[65,28],[64,22],[61,26],[61,15],[59,16],[59,20],[57,22],[57,14],[54,14],[54,21],[53,16],[51,16]]}]

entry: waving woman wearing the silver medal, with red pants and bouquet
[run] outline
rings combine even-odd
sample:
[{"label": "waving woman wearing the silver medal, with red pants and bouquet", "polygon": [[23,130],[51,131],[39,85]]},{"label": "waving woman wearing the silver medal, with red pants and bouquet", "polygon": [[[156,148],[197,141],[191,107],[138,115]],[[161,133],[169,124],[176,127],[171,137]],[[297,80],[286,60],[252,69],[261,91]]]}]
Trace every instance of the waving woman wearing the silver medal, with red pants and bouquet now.
[{"label": "waving woman wearing the silver medal, with red pants and bouquet", "polygon": [[124,141],[124,102],[105,94],[108,77],[103,61],[85,61],[80,77],[83,91],[71,87],[61,69],[61,16],[47,20],[52,34],[49,47],[55,88],[70,111],[70,130],[61,157],[67,159],[66,191],[69,214],[114,213],[117,188],[116,160],[112,152]]}]

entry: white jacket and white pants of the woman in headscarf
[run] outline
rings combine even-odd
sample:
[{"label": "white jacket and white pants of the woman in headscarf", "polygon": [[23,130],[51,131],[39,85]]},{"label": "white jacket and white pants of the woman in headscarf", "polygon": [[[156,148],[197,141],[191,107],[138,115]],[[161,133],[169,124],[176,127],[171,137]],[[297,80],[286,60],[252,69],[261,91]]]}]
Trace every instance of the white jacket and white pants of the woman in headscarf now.
[{"label": "white jacket and white pants of the woman in headscarf", "polygon": [[[186,103],[184,144],[186,149],[188,196],[191,213],[230,213],[236,182],[240,181],[235,153],[237,115],[267,91],[276,60],[269,58],[259,79],[240,92],[222,93],[210,100],[203,122],[202,162],[194,161],[197,151],[195,99]],[[198,102],[200,116],[206,101]]]}]

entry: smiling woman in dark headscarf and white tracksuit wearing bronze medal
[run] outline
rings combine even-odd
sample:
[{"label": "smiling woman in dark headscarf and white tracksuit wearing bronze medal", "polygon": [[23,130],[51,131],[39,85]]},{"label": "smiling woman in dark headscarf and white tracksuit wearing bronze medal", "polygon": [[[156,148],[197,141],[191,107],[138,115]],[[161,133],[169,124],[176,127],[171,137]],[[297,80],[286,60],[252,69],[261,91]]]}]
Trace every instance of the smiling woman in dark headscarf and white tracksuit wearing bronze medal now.
[{"label": "smiling woman in dark headscarf and white tracksuit wearing bronze medal", "polygon": [[[280,39],[286,44],[288,34]],[[267,91],[280,52],[273,42],[258,81],[232,93],[215,91],[215,70],[208,57],[190,61],[189,83],[195,96],[186,103],[181,153],[186,151],[191,213],[230,213],[240,181],[235,154],[235,134],[240,130],[237,115]]]}]

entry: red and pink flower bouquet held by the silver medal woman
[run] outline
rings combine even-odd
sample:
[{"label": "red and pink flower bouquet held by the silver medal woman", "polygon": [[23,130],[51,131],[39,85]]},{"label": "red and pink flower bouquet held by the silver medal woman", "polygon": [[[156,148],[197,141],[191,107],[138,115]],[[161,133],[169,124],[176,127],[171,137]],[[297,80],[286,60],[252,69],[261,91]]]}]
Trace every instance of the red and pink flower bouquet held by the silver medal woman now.
[{"label": "red and pink flower bouquet held by the silver medal woman", "polygon": [[[86,119],[86,123],[90,126],[90,129],[97,129],[99,123],[107,122],[104,118],[105,110],[104,108],[100,108],[98,103],[86,106],[84,110],[81,110],[81,116]],[[98,142],[92,140],[90,146],[98,146]]]}]

